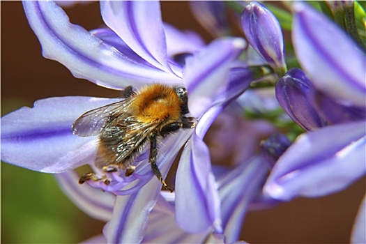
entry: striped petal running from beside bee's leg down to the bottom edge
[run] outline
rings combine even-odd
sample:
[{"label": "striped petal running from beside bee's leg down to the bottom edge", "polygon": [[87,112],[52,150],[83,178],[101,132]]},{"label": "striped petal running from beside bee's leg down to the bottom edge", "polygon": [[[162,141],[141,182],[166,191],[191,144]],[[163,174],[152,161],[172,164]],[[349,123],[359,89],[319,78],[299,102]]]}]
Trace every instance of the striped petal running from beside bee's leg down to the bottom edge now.
[{"label": "striped petal running from beside bee's leg down to the bottom edge", "polygon": [[[171,135],[160,146],[159,151],[165,152],[165,154],[158,154],[157,161],[163,177],[167,175],[176,154],[190,135],[189,131]],[[140,243],[144,238],[148,215],[155,205],[162,187],[158,178],[153,177],[151,166],[146,165],[152,179],[138,191],[117,197],[112,220],[107,223],[104,229],[107,243]],[[138,233],[136,233],[137,230]]]}]

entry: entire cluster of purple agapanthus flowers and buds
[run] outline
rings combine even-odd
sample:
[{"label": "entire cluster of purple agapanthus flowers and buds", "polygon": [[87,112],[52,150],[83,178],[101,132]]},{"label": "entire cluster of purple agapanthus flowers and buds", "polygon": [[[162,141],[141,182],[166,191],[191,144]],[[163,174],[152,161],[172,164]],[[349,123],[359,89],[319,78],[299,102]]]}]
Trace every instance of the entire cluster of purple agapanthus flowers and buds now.
[{"label": "entire cluster of purple agapanthus flowers and buds", "polygon": [[[23,2],[43,56],[125,98],[47,98],[11,112],[1,118],[1,160],[55,174],[79,208],[107,222],[85,243],[235,243],[248,210],[330,195],[365,176],[365,50],[353,2],[322,5],[343,10],[346,32],[307,3],[277,20],[262,3],[192,1],[210,43],[163,22],[158,1],[100,1],[105,26],[91,31],[61,6]],[[231,35],[229,11],[242,37]],[[165,101],[157,93],[134,103],[154,84],[186,89],[180,119],[135,116]],[[132,142],[123,160],[98,165]],[[93,173],[80,178],[83,165]],[[162,188],[168,172],[174,192]],[[355,243],[366,241],[364,217],[365,200]]]}]

